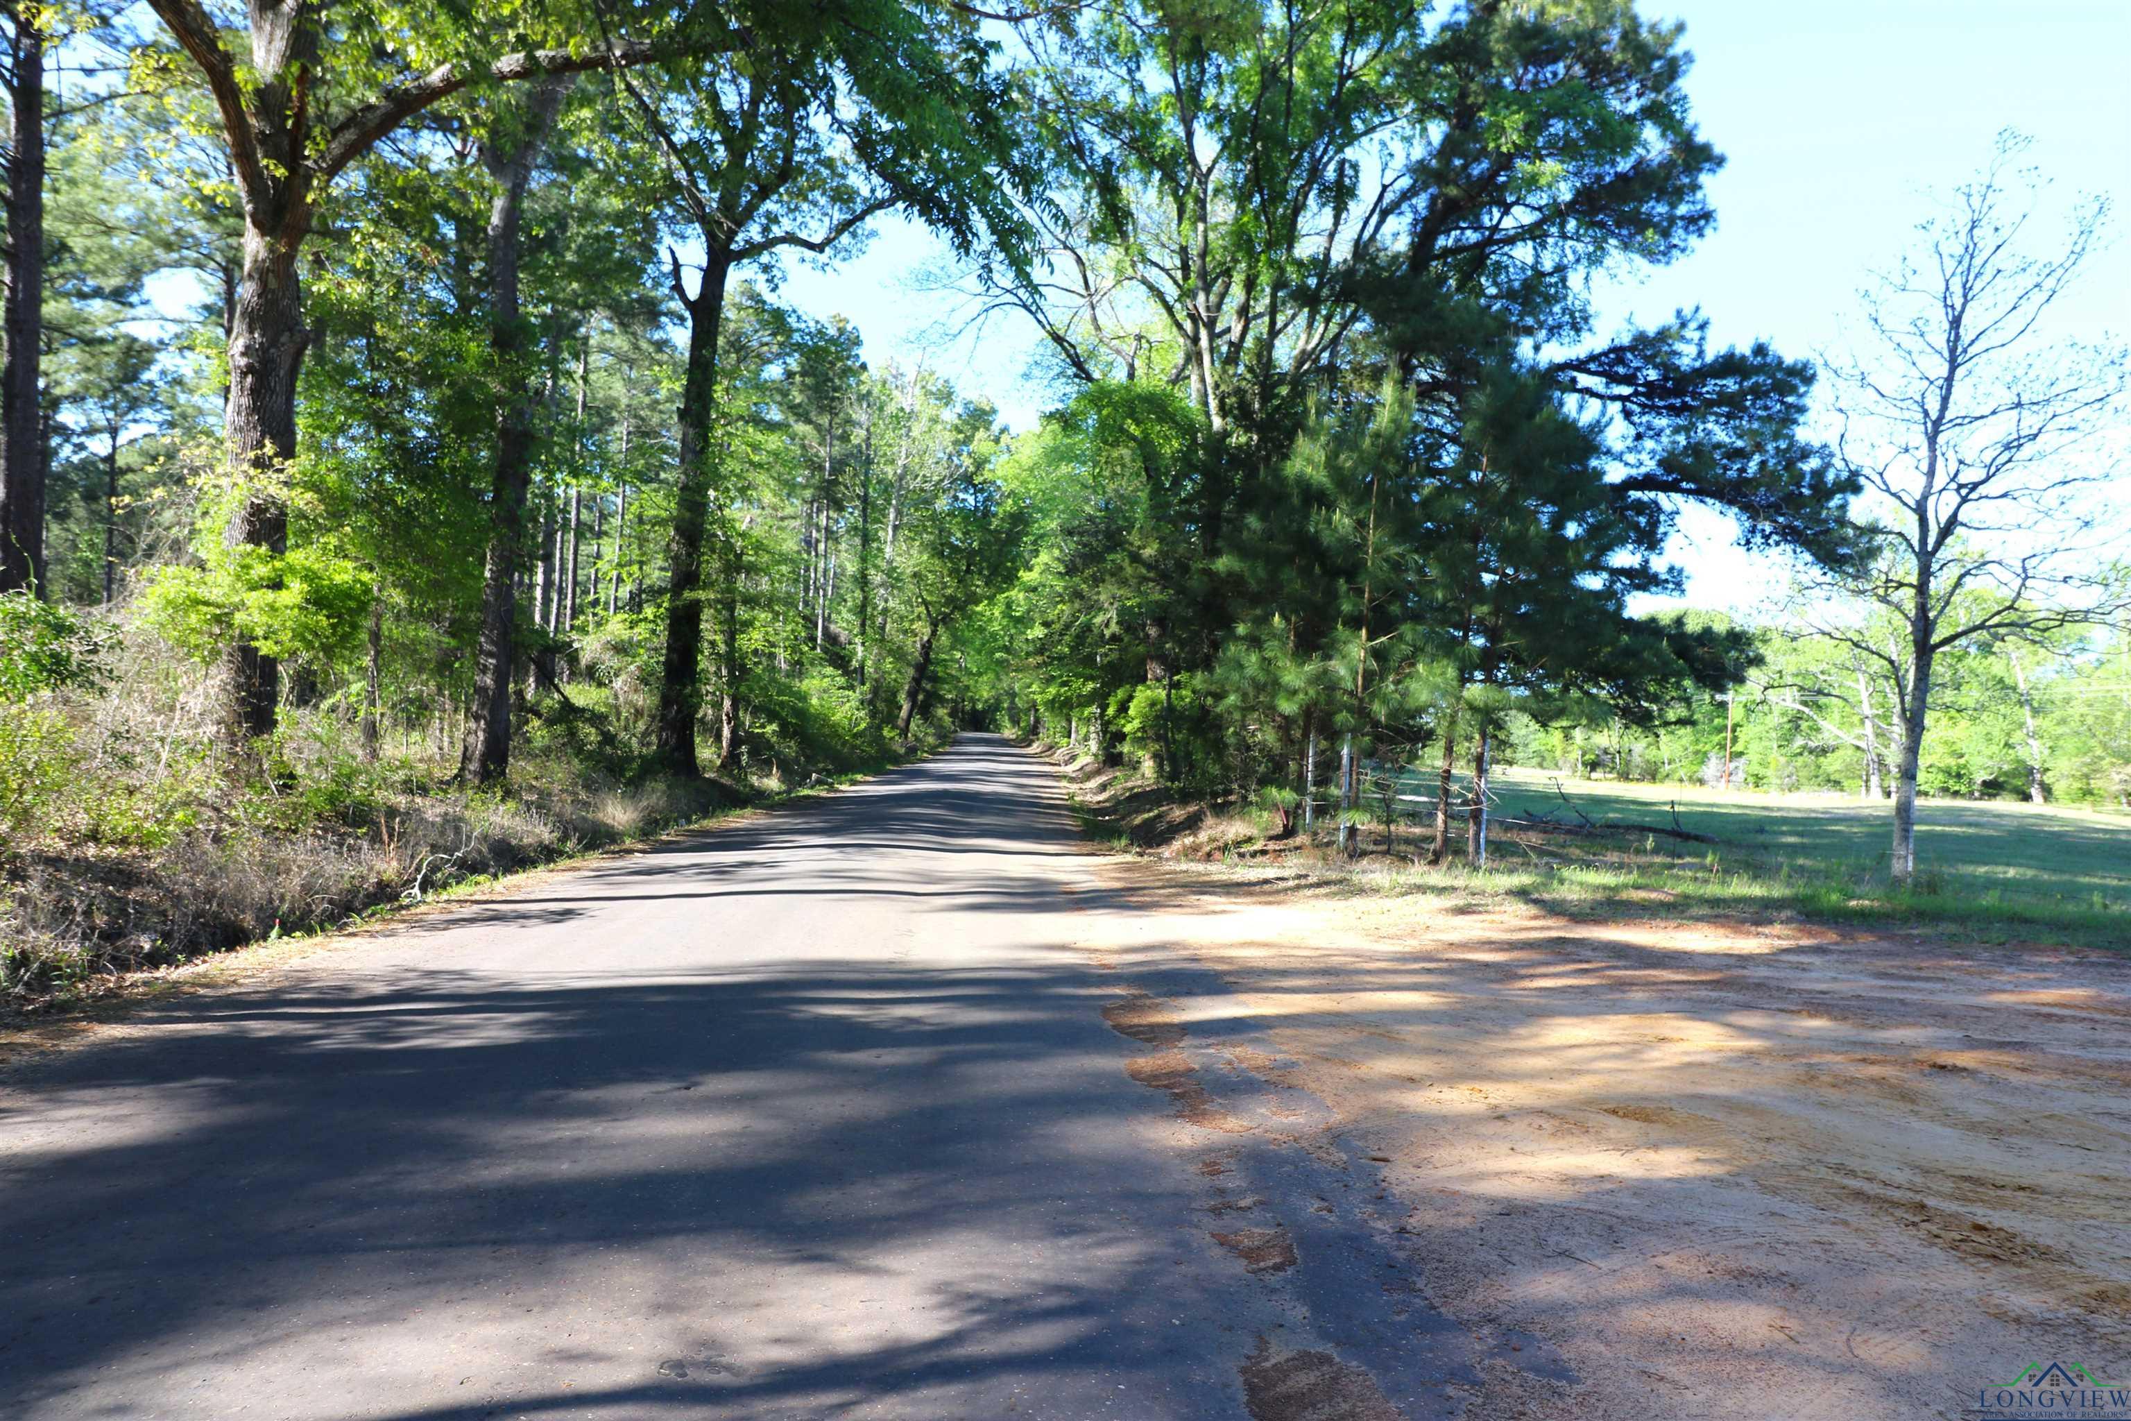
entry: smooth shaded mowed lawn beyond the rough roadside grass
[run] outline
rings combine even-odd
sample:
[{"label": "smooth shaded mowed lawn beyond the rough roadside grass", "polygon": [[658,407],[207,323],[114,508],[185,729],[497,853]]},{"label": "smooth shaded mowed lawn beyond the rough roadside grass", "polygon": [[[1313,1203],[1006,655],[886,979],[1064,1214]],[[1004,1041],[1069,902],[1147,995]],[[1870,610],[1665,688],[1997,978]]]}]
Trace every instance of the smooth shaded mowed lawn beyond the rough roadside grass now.
[{"label": "smooth shaded mowed lawn beyond the rough roadside grass", "polygon": [[[1494,775],[1494,814],[1549,816],[1579,822],[1671,824],[1718,839],[1715,852],[1745,852],[1758,871],[1786,863],[1799,869],[1886,871],[1894,807],[1843,795],[1720,793],[1671,784],[1564,780],[1536,769]],[[1696,846],[1666,844],[1671,852]],[[2131,814],[2027,803],[1931,799],[1918,805],[1916,859],[1922,878],[1948,888],[2044,899],[2086,908],[2131,910]],[[1739,865],[1745,867],[1745,865]]]}]

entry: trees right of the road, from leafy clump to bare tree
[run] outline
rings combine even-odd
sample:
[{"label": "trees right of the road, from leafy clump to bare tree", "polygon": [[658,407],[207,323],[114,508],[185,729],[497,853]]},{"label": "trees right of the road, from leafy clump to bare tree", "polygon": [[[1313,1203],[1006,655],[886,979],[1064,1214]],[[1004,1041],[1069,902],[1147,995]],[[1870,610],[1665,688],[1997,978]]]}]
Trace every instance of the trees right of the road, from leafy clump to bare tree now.
[{"label": "trees right of the road, from leafy clump to bare tree", "polygon": [[[1841,692],[1782,688],[1809,635],[1877,690],[1907,882],[1948,671],[2112,656],[2127,362],[2052,328],[2108,211],[2046,230],[2016,136],[1824,371],[1696,311],[1600,326],[1594,281],[1686,251],[1720,162],[1681,30],[1632,6],[1144,9],[1036,53],[1063,196],[1040,275],[991,290],[1080,392],[1004,475],[1042,535],[997,626],[1053,731],[1283,820],[1430,756],[1428,861],[1462,829],[1485,863],[1504,729],[1652,741],[1747,686],[1811,718]],[[1637,611],[1692,505],[1790,558],[1788,624]]]}]

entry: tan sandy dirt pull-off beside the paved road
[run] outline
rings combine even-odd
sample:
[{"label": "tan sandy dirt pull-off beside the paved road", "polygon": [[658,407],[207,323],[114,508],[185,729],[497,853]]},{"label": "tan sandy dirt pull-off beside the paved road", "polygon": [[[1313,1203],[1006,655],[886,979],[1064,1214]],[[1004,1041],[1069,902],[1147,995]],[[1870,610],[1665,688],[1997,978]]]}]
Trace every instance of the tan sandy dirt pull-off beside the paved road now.
[{"label": "tan sandy dirt pull-off beside the paved road", "polygon": [[1438,1308],[1575,1370],[1466,1415],[1958,1417],[2037,1359],[2131,1374],[2131,961],[1117,873],[1166,908],[1097,961],[1215,967],[1185,1027],[1389,1161]]}]

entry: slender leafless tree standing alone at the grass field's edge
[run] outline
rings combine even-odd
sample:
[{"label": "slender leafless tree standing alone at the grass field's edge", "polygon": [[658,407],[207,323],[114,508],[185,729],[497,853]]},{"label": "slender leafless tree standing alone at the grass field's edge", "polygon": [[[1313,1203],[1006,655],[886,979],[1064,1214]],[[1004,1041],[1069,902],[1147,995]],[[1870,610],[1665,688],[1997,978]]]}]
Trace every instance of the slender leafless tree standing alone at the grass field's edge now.
[{"label": "slender leafless tree standing alone at the grass field's edge", "polygon": [[[1886,665],[1901,697],[1892,873],[1916,869],[1916,775],[1943,652],[2041,637],[2120,611],[2093,554],[2101,513],[2082,501],[2118,471],[2097,435],[2122,409],[2122,349],[2044,343],[2046,322],[2099,247],[2105,205],[2076,209],[2054,251],[2029,256],[2035,194],[2010,192],[2024,143],[1999,141],[1982,177],[1924,228],[1909,260],[1867,292],[1880,362],[1841,375],[1852,401],[1837,456],[1880,496],[1880,556],[1841,590],[1899,626],[1824,635]],[[1809,714],[1809,712],[1807,712]]]}]

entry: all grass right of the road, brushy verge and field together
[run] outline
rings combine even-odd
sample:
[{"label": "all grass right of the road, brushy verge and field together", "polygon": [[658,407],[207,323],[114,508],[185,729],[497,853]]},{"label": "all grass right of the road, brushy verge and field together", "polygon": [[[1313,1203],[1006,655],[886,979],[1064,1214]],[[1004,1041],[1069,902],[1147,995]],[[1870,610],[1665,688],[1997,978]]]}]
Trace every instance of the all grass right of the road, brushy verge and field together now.
[{"label": "all grass right of the road, brushy verge and field together", "polygon": [[[1720,793],[1688,786],[1562,780],[1504,769],[1492,780],[1496,831],[1485,871],[1451,861],[1415,867],[1426,829],[1362,831],[1364,859],[1315,839],[1268,839],[1268,816],[1213,807],[1183,822],[1155,786],[1119,771],[1076,773],[1076,812],[1091,837],[1174,859],[1276,863],[1345,876],[1357,891],[1438,899],[1443,910],[1515,899],[1571,918],[1752,918],[1914,927],[1956,942],[2131,950],[2131,816],[2022,803],[1926,801],[1918,876],[1886,876],[1892,807],[1841,795]],[[1406,812],[1432,818],[1434,784],[1415,782]],[[1168,803],[1166,812],[1157,812]],[[1609,827],[1581,829],[1581,810]],[[1709,844],[1617,829],[1677,827]],[[1515,822],[1526,820],[1526,822]],[[1553,827],[1532,820],[1553,820]],[[1255,835],[1245,833],[1255,822]],[[1166,824],[1181,824],[1168,831]],[[1464,835],[1453,839],[1464,848]]]}]

